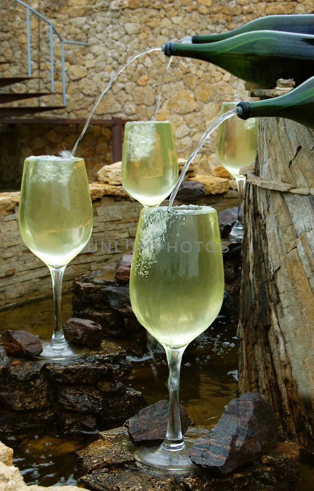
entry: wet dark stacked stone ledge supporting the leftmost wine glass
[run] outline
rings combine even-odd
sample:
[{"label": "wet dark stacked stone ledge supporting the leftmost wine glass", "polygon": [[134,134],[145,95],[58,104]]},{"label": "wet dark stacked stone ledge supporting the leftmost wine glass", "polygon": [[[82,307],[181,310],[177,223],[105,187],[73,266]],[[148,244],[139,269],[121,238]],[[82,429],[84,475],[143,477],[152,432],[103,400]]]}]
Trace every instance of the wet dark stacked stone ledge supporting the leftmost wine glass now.
[{"label": "wet dark stacked stone ledge supporting the leftmost wine glass", "polygon": [[64,433],[95,432],[147,406],[126,387],[126,352],[103,341],[83,359],[67,364],[8,357],[0,348],[0,431],[20,434],[40,426]]}]

